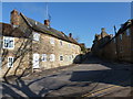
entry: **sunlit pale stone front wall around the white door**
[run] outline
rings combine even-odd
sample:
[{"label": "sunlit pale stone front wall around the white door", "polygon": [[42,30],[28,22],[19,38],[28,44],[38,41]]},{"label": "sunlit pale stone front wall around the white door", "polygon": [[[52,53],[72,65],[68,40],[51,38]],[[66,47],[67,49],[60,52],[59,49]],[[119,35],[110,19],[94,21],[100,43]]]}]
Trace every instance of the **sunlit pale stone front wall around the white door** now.
[{"label": "sunlit pale stone front wall around the white door", "polygon": [[[80,54],[80,46],[73,43],[69,43],[50,35],[40,34],[40,41],[33,41],[32,54],[39,54],[40,56],[40,68],[49,69],[59,66],[65,66],[73,64],[75,56]],[[51,44],[51,41],[53,42]],[[42,54],[45,54],[47,61],[42,61]],[[50,55],[54,55],[54,61],[50,61]],[[60,58],[62,57],[62,61]]]}]

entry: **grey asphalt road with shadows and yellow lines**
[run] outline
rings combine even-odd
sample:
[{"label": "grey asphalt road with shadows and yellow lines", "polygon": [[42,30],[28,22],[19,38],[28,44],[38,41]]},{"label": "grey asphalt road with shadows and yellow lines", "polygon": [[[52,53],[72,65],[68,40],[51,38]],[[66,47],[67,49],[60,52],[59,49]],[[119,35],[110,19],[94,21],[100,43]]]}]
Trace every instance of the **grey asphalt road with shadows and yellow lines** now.
[{"label": "grey asphalt road with shadows and yellow lines", "polygon": [[89,56],[82,64],[2,82],[3,97],[132,97],[132,64]]}]

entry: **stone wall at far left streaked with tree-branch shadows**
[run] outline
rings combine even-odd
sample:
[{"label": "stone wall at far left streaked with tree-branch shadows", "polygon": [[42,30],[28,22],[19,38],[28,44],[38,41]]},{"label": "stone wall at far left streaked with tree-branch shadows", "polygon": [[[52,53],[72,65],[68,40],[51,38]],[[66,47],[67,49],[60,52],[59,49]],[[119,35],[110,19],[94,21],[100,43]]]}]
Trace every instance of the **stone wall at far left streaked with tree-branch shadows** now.
[{"label": "stone wall at far left streaked with tree-branch shadows", "polygon": [[[28,38],[14,38],[14,48],[2,48],[1,76],[22,75],[31,72],[31,42]],[[13,57],[13,67],[8,67],[8,57]],[[25,73],[23,73],[25,72]]]}]

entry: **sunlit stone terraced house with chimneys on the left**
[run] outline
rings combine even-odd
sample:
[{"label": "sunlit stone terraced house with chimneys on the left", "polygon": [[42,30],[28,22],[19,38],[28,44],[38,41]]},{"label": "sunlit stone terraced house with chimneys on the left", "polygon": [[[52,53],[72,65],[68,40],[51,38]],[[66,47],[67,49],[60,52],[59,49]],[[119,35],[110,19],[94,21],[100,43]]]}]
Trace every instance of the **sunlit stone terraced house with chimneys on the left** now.
[{"label": "sunlit stone terraced house with chimneys on the left", "polygon": [[2,77],[70,65],[81,53],[72,33],[52,29],[49,20],[42,24],[13,10],[10,21],[0,23]]}]

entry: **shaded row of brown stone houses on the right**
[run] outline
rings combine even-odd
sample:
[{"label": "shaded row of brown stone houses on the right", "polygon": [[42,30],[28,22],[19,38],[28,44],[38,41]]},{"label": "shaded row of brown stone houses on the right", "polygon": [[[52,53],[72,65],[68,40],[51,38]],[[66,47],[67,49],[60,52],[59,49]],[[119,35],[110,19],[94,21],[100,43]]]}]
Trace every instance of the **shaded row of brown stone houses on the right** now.
[{"label": "shaded row of brown stone houses on the right", "polygon": [[[113,37],[95,40],[92,51],[95,55],[111,59],[133,63],[133,20],[126,21]],[[108,37],[108,41],[104,41]]]}]

